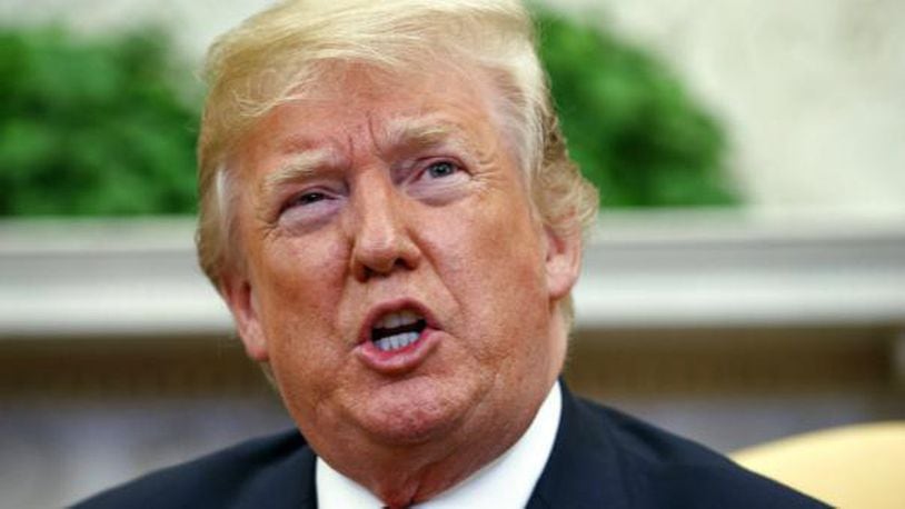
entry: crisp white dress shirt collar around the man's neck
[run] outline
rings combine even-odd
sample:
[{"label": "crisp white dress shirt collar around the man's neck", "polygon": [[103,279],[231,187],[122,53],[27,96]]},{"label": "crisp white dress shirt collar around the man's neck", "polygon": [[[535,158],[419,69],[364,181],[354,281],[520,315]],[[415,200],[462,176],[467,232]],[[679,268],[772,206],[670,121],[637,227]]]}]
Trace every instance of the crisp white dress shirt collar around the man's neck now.
[{"label": "crisp white dress shirt collar around the man's neck", "polygon": [[[554,383],[531,425],[499,458],[461,483],[434,499],[414,506],[418,509],[509,509],[524,508],[553,450],[563,397]],[[317,458],[315,468],[320,509],[376,509],[384,505],[370,491],[334,470]]]}]

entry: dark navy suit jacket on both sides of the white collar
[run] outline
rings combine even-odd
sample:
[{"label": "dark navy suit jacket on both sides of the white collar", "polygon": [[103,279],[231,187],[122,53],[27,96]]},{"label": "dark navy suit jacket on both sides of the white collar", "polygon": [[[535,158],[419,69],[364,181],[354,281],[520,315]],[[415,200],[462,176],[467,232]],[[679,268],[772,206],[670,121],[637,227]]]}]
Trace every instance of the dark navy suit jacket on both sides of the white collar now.
[{"label": "dark navy suit jacket on both sides of the white collar", "polygon": [[[315,509],[315,453],[298,431],[248,441],[102,492],[77,508]],[[528,509],[821,508],[703,446],[573,397]]]}]

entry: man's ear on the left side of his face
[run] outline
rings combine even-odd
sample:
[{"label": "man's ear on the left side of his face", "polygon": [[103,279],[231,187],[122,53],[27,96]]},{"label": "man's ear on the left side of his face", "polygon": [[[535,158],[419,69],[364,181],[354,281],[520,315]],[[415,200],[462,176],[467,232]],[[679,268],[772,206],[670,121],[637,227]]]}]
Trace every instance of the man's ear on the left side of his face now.
[{"label": "man's ear on the left side of his face", "polygon": [[261,327],[258,301],[251,282],[238,275],[226,276],[220,281],[220,295],[229,306],[248,357],[258,362],[266,362],[269,359],[267,337]]}]

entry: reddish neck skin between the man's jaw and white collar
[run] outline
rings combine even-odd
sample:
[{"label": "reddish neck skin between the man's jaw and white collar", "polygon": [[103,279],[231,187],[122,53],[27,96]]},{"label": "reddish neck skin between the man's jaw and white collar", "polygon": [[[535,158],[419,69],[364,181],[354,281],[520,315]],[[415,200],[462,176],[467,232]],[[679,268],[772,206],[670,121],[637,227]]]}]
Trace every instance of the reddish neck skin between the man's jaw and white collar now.
[{"label": "reddish neck skin between the man's jaw and white collar", "polygon": [[[436,497],[500,457],[530,426],[565,360],[566,328],[560,313],[556,312],[555,317],[550,329],[557,331],[556,345],[561,347],[551,356],[547,372],[525,379],[524,385],[531,390],[529,398],[524,391],[519,393],[523,405],[513,406],[516,397],[511,387],[497,387],[496,398],[488,397],[461,422],[419,443],[400,446],[356,440],[346,442],[345,447],[330,447],[332,443],[312,443],[312,447],[331,467],[366,487],[388,508],[405,508]],[[500,405],[501,400],[505,405]],[[499,408],[507,408],[506,418],[491,416]],[[473,422],[497,426],[487,429],[471,426]]]}]

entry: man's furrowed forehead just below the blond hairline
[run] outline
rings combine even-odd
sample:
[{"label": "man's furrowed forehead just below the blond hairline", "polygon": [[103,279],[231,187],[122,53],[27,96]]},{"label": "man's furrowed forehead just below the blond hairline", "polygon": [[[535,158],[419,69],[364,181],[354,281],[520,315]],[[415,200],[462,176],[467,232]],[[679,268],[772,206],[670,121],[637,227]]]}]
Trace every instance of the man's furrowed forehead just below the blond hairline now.
[{"label": "man's furrowed forehead just below the blond hairline", "polygon": [[394,146],[442,138],[499,137],[498,102],[479,71],[418,66],[390,72],[337,64],[294,90],[251,130],[243,150],[299,151],[369,139]]}]

